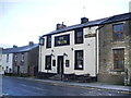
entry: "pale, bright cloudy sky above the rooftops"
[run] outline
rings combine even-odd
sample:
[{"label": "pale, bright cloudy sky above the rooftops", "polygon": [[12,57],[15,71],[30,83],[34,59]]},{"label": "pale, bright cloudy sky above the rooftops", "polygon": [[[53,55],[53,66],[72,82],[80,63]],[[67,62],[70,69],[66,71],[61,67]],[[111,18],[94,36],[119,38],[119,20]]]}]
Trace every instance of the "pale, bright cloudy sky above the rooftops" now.
[{"label": "pale, bright cloudy sky above the rooftops", "polygon": [[131,0],[0,0],[0,47],[38,44],[39,36],[67,26],[129,12]]}]

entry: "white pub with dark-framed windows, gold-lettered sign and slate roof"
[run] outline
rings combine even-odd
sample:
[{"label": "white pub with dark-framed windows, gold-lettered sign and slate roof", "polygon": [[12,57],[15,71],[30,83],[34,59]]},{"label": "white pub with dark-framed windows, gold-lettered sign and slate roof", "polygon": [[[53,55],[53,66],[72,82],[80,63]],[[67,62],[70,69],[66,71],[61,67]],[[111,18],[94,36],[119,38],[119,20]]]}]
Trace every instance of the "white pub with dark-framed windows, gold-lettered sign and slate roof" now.
[{"label": "white pub with dark-framed windows, gold-lettered sign and slate roof", "polygon": [[39,72],[62,75],[87,75],[96,77],[97,28],[107,19],[88,22],[82,17],[81,24],[66,26],[57,24],[57,29],[39,38]]}]

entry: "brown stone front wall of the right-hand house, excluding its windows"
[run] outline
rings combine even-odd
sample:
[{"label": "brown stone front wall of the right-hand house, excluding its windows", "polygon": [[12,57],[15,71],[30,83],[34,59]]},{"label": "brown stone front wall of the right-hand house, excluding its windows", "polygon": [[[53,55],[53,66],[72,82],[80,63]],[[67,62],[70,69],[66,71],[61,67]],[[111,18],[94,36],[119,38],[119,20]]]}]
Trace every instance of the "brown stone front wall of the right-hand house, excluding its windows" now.
[{"label": "brown stone front wall of the right-hand house, excluding its windows", "polygon": [[[121,40],[112,39],[112,25],[123,23],[123,38]],[[114,52],[112,49],[124,48],[124,69],[128,69],[128,73],[131,72],[129,69],[129,61],[131,63],[131,40],[130,40],[130,27],[131,22],[119,22],[106,24],[103,28],[99,29],[99,71],[98,71],[98,81],[99,82],[109,82],[109,83],[123,83],[124,82],[124,71],[115,71],[114,70]],[[130,77],[130,74],[128,74]]]}]

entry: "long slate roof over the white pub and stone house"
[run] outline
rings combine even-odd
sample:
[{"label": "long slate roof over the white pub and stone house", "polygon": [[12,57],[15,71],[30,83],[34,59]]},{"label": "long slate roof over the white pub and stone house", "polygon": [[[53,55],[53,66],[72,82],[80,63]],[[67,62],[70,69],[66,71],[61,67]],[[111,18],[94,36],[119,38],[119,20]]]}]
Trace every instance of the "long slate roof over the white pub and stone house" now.
[{"label": "long slate roof over the white pub and stone house", "polygon": [[127,20],[131,20],[131,12],[130,13],[124,13],[124,14],[119,14],[119,15],[114,15],[114,16],[109,16],[109,17],[105,17],[105,19],[100,19],[100,20],[96,20],[96,21],[91,21],[91,22],[87,22],[87,23],[84,23],[84,24],[68,26],[66,28],[53,30],[49,34],[43,35],[43,37],[48,36],[48,35],[55,35],[55,34],[68,32],[68,30],[72,30],[72,29],[75,29],[75,28],[104,25],[104,24],[108,24],[108,23],[121,22],[121,21],[127,21]]}]

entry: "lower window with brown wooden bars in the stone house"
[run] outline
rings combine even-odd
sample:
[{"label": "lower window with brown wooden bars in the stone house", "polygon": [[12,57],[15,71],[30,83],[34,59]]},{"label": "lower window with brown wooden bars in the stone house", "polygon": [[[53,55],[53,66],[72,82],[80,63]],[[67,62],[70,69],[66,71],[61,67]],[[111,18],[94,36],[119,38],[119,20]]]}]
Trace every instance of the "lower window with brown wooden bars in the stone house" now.
[{"label": "lower window with brown wooden bars in the stone house", "polygon": [[114,70],[123,70],[124,49],[114,49]]}]

